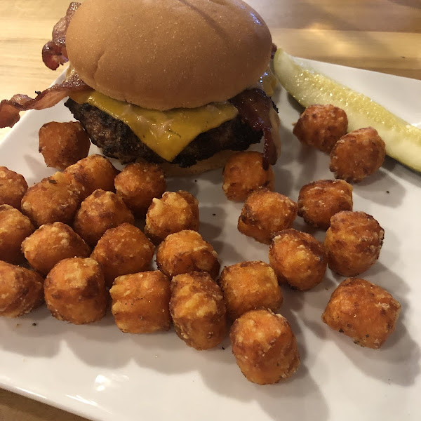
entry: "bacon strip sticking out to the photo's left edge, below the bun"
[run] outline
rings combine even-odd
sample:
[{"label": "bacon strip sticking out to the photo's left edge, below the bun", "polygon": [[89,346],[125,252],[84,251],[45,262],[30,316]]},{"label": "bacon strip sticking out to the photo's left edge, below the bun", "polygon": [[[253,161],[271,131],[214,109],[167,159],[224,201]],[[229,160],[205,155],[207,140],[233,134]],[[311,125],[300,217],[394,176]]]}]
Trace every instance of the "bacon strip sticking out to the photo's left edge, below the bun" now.
[{"label": "bacon strip sticking out to the photo's left edge, below the bun", "polygon": [[67,81],[58,83],[30,98],[27,95],[13,95],[10,100],[0,102],[0,128],[13,127],[20,119],[19,113],[27,109],[44,109],[53,107],[69,93],[91,89],[77,74],[73,74]]}]

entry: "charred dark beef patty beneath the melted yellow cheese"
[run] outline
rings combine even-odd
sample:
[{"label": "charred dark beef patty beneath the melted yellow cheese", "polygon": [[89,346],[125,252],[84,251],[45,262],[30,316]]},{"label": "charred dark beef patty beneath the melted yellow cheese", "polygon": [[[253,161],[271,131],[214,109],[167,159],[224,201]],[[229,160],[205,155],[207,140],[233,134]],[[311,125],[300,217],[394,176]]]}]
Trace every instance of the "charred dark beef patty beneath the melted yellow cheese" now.
[{"label": "charred dark beef patty beneath the melted yellow cheese", "polygon": [[[87,103],[79,104],[69,99],[65,106],[74,118],[81,122],[93,144],[100,147],[106,156],[119,159],[122,163],[133,162],[138,158],[155,163],[164,162],[164,159],[142,143],[123,121],[114,119]],[[187,168],[221,150],[246,150],[251,144],[260,142],[261,138],[262,131],[253,131],[238,115],[219,127],[198,135],[172,163]]]}]

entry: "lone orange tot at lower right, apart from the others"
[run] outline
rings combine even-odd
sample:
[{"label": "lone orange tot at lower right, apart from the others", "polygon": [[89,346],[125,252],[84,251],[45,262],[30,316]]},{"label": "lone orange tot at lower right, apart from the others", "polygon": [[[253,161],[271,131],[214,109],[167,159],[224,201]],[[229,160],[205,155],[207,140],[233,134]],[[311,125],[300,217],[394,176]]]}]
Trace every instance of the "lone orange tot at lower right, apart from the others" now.
[{"label": "lone orange tot at lower right, apart from the others", "polygon": [[387,290],[365,279],[342,281],[321,319],[361,347],[380,348],[394,332],[401,305]]}]

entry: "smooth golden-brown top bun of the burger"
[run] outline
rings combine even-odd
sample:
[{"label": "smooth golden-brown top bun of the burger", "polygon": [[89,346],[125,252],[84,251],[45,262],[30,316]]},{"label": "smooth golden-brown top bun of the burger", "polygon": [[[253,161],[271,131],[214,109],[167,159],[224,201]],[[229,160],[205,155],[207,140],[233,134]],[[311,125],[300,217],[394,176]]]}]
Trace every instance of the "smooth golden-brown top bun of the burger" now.
[{"label": "smooth golden-brown top bun of the burger", "polygon": [[95,90],[164,110],[225,101],[253,86],[272,38],[240,0],[86,0],[66,48]]}]

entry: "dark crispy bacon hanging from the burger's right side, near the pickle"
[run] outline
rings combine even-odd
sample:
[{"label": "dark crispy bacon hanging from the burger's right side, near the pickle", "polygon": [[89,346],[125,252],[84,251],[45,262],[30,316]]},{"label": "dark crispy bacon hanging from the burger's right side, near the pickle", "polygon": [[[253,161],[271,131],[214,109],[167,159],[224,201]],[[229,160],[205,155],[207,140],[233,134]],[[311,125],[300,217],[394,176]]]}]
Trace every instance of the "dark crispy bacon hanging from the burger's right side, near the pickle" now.
[{"label": "dark crispy bacon hanging from the burger's right side, near the pickle", "polygon": [[270,112],[272,100],[261,89],[246,89],[229,100],[238,110],[244,121],[255,131],[263,132],[263,168],[267,170],[276,163],[278,154],[272,136]]}]

